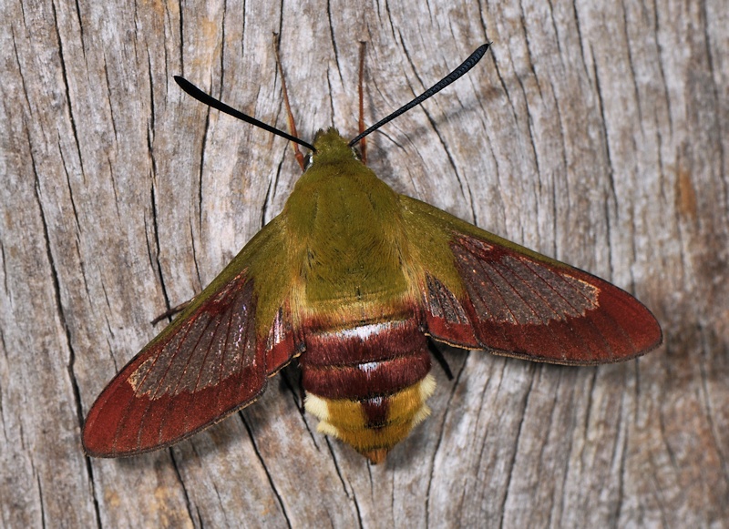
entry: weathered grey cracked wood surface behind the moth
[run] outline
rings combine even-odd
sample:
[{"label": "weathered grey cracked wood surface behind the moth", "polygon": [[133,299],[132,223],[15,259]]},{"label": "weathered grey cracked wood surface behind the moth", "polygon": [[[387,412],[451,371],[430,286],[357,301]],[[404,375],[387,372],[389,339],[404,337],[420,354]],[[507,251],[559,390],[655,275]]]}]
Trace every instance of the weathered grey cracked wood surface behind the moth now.
[{"label": "weathered grey cracked wood surface behind the moth", "polygon": [[[729,5],[541,0],[0,10],[0,524],[729,524]],[[466,4],[466,3],[463,3]],[[161,326],[282,209],[280,138],[356,128],[459,64],[466,79],[372,137],[400,192],[631,290],[665,345],[596,369],[452,351],[433,416],[371,467],[315,432],[295,371],[170,450],[89,460],[82,418]]]}]

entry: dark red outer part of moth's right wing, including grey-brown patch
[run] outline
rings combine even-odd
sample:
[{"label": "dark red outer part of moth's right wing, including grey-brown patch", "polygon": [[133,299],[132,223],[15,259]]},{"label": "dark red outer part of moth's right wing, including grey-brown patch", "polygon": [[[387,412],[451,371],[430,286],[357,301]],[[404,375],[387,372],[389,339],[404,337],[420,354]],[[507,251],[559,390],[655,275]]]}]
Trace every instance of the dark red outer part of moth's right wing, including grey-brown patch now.
[{"label": "dark red outer part of moth's right wing, including grey-brown patch", "polygon": [[482,348],[591,365],[629,360],[661,344],[650,310],[607,281],[471,236],[459,234],[450,246],[467,292],[461,306]]}]

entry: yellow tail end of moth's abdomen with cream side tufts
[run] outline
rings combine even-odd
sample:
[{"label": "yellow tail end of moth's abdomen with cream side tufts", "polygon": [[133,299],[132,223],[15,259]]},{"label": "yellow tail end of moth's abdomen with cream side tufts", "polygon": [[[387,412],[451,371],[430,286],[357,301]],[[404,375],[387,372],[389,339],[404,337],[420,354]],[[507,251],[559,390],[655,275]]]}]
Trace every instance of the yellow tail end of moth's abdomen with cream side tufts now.
[{"label": "yellow tail end of moth's abdomen with cream side tufts", "polygon": [[[371,399],[327,399],[309,392],[304,407],[319,418],[319,432],[350,444],[372,463],[381,463],[430,414],[426,399],[435,389],[436,379],[427,374],[399,392]],[[373,407],[383,410],[377,422],[373,422]]]}]

